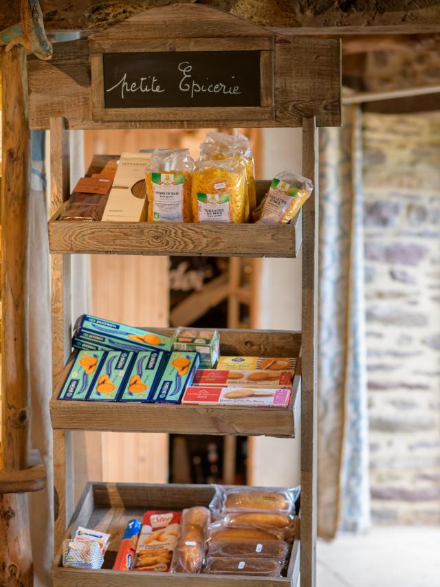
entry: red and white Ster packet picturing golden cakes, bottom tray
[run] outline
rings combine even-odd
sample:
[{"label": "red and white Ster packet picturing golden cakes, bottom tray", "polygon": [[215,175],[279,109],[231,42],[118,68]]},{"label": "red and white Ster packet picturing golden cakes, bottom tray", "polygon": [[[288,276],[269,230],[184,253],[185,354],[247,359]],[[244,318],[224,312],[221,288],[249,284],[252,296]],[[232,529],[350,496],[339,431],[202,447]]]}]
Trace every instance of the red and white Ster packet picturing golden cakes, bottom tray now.
[{"label": "red and white Ster packet picturing golden cakes, bottom tray", "polygon": [[146,511],[133,571],[169,572],[179,538],[181,512]]}]

